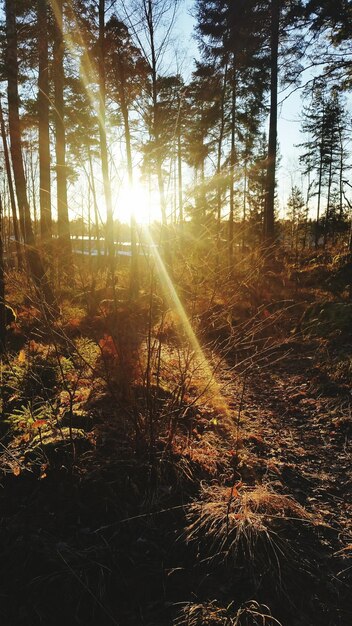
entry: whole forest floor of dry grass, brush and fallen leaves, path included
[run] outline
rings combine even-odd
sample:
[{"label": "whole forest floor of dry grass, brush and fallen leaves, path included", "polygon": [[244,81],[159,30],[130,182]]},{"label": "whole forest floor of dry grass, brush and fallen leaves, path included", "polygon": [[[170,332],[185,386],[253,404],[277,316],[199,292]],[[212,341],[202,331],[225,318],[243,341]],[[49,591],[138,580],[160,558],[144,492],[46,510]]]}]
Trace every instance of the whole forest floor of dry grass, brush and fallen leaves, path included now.
[{"label": "whole forest floor of dry grass, brush and fallen leaves, path included", "polygon": [[[315,262],[302,272],[312,286],[281,277],[284,293],[256,294],[253,319],[243,292],[230,323],[222,303],[216,319],[198,315],[217,382],[197,401],[197,368],[178,400],[170,320],[153,331],[163,384],[122,398],[133,367],[117,362],[145,346],[115,354],[107,319],[72,307],[52,345],[18,304],[2,371],[1,624],[352,623],[352,305],[320,290]],[[131,311],[109,320],[133,343]],[[44,380],[55,419],[25,423]]]}]

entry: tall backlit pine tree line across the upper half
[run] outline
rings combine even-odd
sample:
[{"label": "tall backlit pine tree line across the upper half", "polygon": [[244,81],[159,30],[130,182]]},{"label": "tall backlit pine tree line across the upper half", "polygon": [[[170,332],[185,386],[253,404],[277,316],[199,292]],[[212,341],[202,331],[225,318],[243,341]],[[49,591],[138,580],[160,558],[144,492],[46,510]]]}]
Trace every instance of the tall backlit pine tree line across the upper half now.
[{"label": "tall backlit pine tree line across the upper half", "polygon": [[[271,245],[279,90],[299,86],[307,65],[314,74],[302,121],[306,198],[293,186],[290,221],[298,232],[313,208],[316,246],[347,221],[349,122],[342,94],[350,88],[352,3],[195,0],[199,57],[187,80],[177,54],[170,62],[179,4],[3,4],[2,205],[11,210],[18,267],[29,268],[48,303],[54,302],[48,266],[57,258],[64,276],[72,265],[72,185],[84,189],[84,219],[89,215],[98,255],[103,235],[114,273],[116,150],[130,189],[142,179],[157,190],[162,241],[171,222],[191,220],[225,237],[230,266],[237,227]],[[131,282],[138,285],[131,215]]]}]

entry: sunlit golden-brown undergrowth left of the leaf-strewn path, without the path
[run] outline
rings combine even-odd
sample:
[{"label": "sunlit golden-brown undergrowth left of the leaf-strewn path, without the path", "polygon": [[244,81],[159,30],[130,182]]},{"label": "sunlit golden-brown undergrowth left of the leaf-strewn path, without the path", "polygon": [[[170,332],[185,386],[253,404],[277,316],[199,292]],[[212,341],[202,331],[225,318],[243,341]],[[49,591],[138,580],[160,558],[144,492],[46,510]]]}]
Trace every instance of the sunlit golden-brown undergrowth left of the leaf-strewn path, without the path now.
[{"label": "sunlit golden-brown undergrowth left of the leaf-strewn path, without the path", "polygon": [[[268,269],[253,254],[230,274],[204,255],[180,256],[175,293],[141,264],[145,289],[133,298],[123,268],[112,289],[107,272],[82,266],[54,320],[8,276],[17,321],[1,363],[5,624],[291,626],[316,596],[328,531],[263,480],[274,461],[255,425],[248,433],[242,400],[250,379],[315,342],[314,366],[338,386],[332,428],[348,438],[348,284],[338,274],[336,295],[328,280],[343,262],[331,257],[325,272],[314,256],[274,259]],[[326,303],[344,316],[321,337],[314,320],[324,309],[329,325]],[[350,543],[335,555],[344,584]]]}]

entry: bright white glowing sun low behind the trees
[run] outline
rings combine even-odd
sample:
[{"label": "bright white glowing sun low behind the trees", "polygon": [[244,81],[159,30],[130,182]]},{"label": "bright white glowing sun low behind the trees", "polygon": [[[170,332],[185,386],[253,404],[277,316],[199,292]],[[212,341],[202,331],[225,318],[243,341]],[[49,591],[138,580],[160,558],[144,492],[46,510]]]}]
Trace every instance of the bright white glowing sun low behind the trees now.
[{"label": "bright white glowing sun low behind the trees", "polygon": [[132,216],[137,224],[151,224],[160,221],[160,202],[156,191],[135,183],[132,187],[121,185],[115,195],[114,217],[129,224]]}]

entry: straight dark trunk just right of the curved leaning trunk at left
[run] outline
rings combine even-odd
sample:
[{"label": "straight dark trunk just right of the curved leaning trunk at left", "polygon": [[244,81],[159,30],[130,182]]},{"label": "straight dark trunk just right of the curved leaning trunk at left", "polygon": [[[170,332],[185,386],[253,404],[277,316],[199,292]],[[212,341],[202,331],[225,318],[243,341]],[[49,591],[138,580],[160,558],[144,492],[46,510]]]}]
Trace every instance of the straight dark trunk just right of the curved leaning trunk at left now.
[{"label": "straight dark trunk just right of the curved leaning trunk at left", "polygon": [[39,198],[40,234],[44,244],[51,240],[50,137],[48,14],[46,0],[38,0],[38,122],[39,122]]}]

